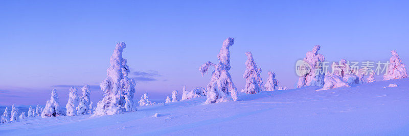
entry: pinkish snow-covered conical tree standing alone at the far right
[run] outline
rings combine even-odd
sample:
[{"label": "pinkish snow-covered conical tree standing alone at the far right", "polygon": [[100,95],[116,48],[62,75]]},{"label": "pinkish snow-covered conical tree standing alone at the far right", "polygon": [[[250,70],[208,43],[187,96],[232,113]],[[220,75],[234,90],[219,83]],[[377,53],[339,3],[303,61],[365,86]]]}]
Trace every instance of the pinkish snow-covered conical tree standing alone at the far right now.
[{"label": "pinkish snow-covered conical tree standing alone at the far right", "polygon": [[383,75],[383,80],[406,78],[407,72],[405,64],[400,60],[398,53],[395,50],[391,51],[392,57],[389,59],[388,73]]}]

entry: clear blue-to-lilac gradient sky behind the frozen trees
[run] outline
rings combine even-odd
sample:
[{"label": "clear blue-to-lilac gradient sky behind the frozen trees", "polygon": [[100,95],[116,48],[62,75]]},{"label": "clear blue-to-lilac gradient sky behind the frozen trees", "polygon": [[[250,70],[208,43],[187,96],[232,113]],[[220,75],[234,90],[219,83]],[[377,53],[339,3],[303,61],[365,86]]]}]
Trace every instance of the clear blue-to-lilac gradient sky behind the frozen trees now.
[{"label": "clear blue-to-lilac gradient sky behind the frozen trees", "polygon": [[[230,73],[241,90],[246,51],[294,87],[295,62],[313,45],[328,61],[387,61],[390,50],[409,55],[408,1],[2,1],[0,2],[0,105],[40,104],[53,88],[65,105],[68,88],[92,86],[102,98],[115,44],[137,83],[165,99],[173,90],[204,87],[201,64],[217,62],[222,41],[235,38]],[[81,94],[81,91],[78,92]],[[180,96],[179,96],[180,97]]]}]

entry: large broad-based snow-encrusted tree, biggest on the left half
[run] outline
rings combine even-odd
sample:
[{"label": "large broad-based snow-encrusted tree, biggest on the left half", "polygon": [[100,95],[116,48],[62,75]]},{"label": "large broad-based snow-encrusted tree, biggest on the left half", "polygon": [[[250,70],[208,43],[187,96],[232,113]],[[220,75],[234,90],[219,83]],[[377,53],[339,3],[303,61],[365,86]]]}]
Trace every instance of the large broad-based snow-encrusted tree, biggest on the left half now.
[{"label": "large broad-based snow-encrusted tree, biggest on the left half", "polygon": [[97,103],[94,116],[137,111],[133,101],[135,81],[128,78],[129,66],[126,64],[126,59],[122,58],[125,47],[125,43],[121,42],[113,50],[109,60],[110,66],[106,70],[107,77],[101,83],[101,90],[104,91],[105,96]]}]

